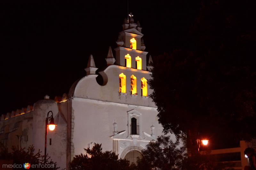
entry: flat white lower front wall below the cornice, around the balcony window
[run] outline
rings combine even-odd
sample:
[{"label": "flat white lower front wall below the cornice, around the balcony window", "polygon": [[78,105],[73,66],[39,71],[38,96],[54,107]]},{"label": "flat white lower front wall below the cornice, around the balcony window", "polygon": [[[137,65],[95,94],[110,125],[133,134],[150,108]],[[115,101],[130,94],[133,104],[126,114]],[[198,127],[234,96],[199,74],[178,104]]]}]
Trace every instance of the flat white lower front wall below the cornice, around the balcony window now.
[{"label": "flat white lower front wall below the cornice, around the balcony window", "polygon": [[[84,153],[89,143],[101,143],[103,150],[113,150],[113,123],[116,120],[117,130],[124,131],[125,139],[130,140],[128,134],[128,111],[135,109],[140,112],[140,130],[151,134],[151,123],[156,127],[155,133],[162,134],[162,127],[158,124],[155,108],[143,108],[118,103],[97,100],[73,99],[75,115],[74,139],[75,154]],[[145,138],[143,133],[142,138]],[[118,153],[119,154],[119,153]]]}]

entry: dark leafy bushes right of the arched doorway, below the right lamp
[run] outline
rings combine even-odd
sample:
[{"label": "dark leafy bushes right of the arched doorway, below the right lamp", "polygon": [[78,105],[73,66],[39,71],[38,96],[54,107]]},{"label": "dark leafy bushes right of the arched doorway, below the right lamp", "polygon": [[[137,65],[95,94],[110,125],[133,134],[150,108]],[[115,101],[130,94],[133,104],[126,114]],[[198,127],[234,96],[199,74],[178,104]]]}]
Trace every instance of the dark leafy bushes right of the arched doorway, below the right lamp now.
[{"label": "dark leafy bushes right of the arched doorway, below the right lamp", "polygon": [[[182,141],[182,142],[180,142]],[[197,153],[188,157],[186,138],[183,136],[175,142],[170,136],[159,136],[156,141],[151,141],[144,150],[142,158],[137,161],[137,170],[220,170],[224,164],[213,157],[210,152]]]}]

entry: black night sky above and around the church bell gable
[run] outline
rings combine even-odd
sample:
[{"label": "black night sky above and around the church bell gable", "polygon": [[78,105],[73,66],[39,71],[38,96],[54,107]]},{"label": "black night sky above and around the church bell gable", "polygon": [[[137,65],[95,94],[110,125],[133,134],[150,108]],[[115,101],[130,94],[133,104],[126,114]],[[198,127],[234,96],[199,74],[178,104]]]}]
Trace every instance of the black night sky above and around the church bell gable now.
[{"label": "black night sky above and around the church bell gable", "polygon": [[[189,0],[130,0],[129,12],[140,21],[145,51],[154,57],[185,47],[200,5]],[[46,94],[54,99],[68,93],[86,75],[90,54],[97,68],[105,66],[109,46],[115,55],[127,0],[6,0],[0,2],[0,12],[0,114],[6,114],[33,105]]]}]

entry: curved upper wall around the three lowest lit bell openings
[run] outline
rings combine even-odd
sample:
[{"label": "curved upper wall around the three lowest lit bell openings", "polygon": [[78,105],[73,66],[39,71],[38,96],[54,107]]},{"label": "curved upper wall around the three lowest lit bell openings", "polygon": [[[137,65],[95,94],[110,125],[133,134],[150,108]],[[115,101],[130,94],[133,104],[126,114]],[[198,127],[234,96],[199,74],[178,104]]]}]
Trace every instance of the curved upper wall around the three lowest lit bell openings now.
[{"label": "curved upper wall around the three lowest lit bell openings", "polygon": [[[113,101],[117,103],[134,104],[141,106],[156,107],[152,100],[148,97],[141,96],[140,79],[150,79],[150,73],[145,70],[137,70],[118,65],[108,66],[104,72],[108,76],[108,83],[101,86],[97,83],[96,77],[98,75],[91,74],[82,78],[76,85],[74,97],[97,99],[103,101]],[[119,74],[124,73],[126,76],[126,95],[119,93]],[[131,95],[131,76],[137,78],[137,93],[138,95]],[[148,94],[152,92],[148,86]]]}]

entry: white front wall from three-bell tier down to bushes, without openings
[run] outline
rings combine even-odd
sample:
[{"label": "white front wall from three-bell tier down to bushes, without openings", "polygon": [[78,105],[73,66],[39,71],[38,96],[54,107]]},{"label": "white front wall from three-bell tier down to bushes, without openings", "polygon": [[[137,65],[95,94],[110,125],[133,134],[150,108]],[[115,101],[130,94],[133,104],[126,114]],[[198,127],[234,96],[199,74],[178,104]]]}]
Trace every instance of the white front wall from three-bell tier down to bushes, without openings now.
[{"label": "white front wall from three-bell tier down to bushes, without openings", "polygon": [[[104,151],[111,150],[124,158],[131,150],[145,148],[149,141],[162,135],[162,126],[157,121],[157,109],[149,97],[141,96],[141,78],[150,79],[150,73],[145,70],[110,65],[104,70],[108,83],[101,86],[97,83],[98,75],[88,75],[76,85],[72,97],[74,153],[84,153],[88,144],[101,143]],[[119,74],[126,75],[126,93],[119,93]],[[137,78],[137,95],[130,94],[130,77]],[[152,92],[148,86],[148,95]],[[129,115],[140,116],[139,135],[130,135]],[[117,123],[114,135],[113,123]],[[128,123],[129,122],[129,123]],[[155,136],[151,136],[152,125],[155,126]],[[114,136],[113,136],[114,135]],[[92,145],[91,145],[92,147]],[[71,154],[72,155],[72,154]]]}]

